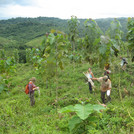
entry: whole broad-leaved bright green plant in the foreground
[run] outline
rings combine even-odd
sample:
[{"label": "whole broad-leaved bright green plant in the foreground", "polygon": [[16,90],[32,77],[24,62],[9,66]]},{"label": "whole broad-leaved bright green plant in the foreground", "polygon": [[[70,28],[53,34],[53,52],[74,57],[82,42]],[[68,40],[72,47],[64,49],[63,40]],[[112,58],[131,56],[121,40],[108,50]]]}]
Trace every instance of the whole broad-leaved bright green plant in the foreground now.
[{"label": "whole broad-leaved bright green plant in the foreground", "polygon": [[[69,121],[69,129],[72,132],[75,128],[77,128],[78,125],[86,124],[86,121],[88,121],[88,117],[90,117],[91,114],[98,112],[100,113],[100,110],[105,109],[101,105],[92,105],[90,103],[88,104],[76,104],[76,105],[69,105],[67,107],[62,108],[59,110],[59,113],[69,113],[74,112],[76,115],[74,115],[71,120]],[[93,116],[93,115],[92,115]]]}]

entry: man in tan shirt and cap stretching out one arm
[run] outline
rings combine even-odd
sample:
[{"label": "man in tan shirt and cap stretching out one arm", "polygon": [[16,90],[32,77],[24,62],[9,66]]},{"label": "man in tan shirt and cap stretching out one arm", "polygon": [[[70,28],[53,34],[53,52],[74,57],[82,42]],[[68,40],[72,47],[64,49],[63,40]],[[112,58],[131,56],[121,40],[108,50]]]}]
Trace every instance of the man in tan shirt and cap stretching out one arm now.
[{"label": "man in tan shirt and cap stretching out one arm", "polygon": [[92,78],[93,80],[97,80],[101,83],[101,100],[105,104],[105,94],[107,95],[107,102],[111,101],[110,93],[111,93],[111,80],[108,79],[108,76],[105,75],[100,78]]}]

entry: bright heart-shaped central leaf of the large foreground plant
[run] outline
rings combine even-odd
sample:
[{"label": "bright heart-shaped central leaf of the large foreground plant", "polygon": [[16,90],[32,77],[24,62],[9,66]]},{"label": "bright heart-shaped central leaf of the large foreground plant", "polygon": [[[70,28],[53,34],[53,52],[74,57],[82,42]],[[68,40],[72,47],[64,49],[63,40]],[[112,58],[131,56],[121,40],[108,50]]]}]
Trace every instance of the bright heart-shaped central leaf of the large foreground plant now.
[{"label": "bright heart-shaped central leaf of the large foreground plant", "polygon": [[89,114],[93,112],[93,106],[91,104],[81,105],[76,104],[74,106],[76,114],[80,117],[80,119],[85,120],[88,118]]}]

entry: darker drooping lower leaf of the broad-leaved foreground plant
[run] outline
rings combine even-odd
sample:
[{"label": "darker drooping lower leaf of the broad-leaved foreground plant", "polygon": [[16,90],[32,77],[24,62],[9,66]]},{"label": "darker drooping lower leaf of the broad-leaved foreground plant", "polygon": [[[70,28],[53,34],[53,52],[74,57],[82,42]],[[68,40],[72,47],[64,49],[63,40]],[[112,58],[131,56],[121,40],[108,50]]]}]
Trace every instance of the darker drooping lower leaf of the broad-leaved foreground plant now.
[{"label": "darker drooping lower leaf of the broad-leaved foreground plant", "polygon": [[72,119],[68,123],[69,130],[72,131],[81,122],[82,122],[82,120],[78,116],[73,116]]}]

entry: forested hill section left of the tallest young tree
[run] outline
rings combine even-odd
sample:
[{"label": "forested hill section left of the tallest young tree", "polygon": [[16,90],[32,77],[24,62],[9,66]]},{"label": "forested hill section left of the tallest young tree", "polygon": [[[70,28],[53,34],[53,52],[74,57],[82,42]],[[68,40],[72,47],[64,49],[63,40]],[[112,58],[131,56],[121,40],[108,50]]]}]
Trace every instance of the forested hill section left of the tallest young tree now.
[{"label": "forested hill section left of the tallest young tree", "polygon": [[[66,24],[65,24],[66,22]],[[27,42],[43,36],[51,29],[65,31],[67,21],[57,18],[16,18],[0,21],[0,36]]]}]

